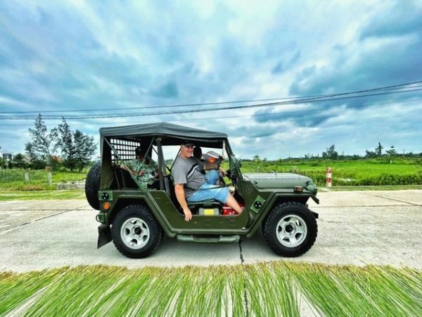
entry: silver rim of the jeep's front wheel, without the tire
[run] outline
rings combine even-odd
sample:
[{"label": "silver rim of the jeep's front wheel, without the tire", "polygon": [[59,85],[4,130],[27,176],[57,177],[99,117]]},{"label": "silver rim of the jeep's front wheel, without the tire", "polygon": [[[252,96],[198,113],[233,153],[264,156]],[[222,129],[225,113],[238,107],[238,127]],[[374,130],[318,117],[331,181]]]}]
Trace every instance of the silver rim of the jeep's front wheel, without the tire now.
[{"label": "silver rim of the jeep's front wheel, without the tire", "polygon": [[276,226],[277,239],[283,246],[298,247],[307,236],[307,225],[300,216],[288,215],[281,218]]}]

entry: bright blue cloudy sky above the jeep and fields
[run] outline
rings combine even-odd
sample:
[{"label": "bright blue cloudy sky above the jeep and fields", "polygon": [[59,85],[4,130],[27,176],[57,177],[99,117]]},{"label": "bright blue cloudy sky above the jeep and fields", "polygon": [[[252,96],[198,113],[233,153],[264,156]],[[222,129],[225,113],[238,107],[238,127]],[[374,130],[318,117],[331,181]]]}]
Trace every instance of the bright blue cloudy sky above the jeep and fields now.
[{"label": "bright blue cloudy sky above the jeep and fields", "polygon": [[[101,127],[160,121],[225,132],[243,159],[331,144],[363,155],[378,142],[421,153],[422,83],[233,108],[418,82],[421,52],[416,0],[1,1],[0,147],[23,153],[41,113],[47,128],[65,116],[96,142]],[[203,105],[226,101],[250,102]],[[174,113],[188,110],[199,111]],[[71,118],[94,114],[120,117]]]}]

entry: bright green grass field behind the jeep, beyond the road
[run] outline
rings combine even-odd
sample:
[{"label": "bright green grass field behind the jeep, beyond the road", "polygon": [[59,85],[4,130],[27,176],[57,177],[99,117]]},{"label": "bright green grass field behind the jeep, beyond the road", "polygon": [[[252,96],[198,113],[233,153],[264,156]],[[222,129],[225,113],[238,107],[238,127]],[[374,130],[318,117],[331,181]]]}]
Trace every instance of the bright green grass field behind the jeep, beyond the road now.
[{"label": "bright green grass field behind the jeep, beyond the road", "polygon": [[[392,163],[383,159],[360,159],[357,161],[323,161],[323,160],[279,160],[242,162],[243,173],[298,173],[307,175],[319,187],[326,184],[326,168],[333,169],[333,186],[340,190],[350,189],[355,186],[367,190],[381,186],[378,189],[409,188],[422,185],[422,159],[395,158]],[[228,169],[229,164],[224,162],[223,167]],[[0,195],[1,199],[7,199],[17,192],[52,191],[60,182],[77,182],[87,177],[88,170],[84,173],[57,172],[51,173],[52,184],[47,181],[45,170],[29,170],[30,181],[25,181],[25,170],[12,169],[0,170]],[[8,192],[15,193],[8,193]],[[24,194],[25,197],[36,197],[37,194]],[[46,196],[51,196],[48,194]],[[66,198],[79,197],[79,194],[62,193],[55,194]],[[30,198],[27,198],[30,199]],[[34,198],[32,198],[34,199]],[[41,197],[40,199],[44,199]],[[54,198],[51,198],[54,199]]]}]

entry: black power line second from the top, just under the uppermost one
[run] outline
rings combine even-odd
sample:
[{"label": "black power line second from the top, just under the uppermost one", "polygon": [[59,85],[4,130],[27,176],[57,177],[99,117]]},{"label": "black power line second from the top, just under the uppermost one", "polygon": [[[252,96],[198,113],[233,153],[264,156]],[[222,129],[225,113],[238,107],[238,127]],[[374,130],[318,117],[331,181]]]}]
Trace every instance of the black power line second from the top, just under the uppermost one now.
[{"label": "black power line second from the top, just under the uppermost one", "polygon": [[[399,94],[399,93],[406,93],[406,92],[418,92],[421,91],[422,88],[412,89],[402,89],[398,91],[383,91],[390,87],[383,87],[378,88],[376,90],[381,90],[381,92],[374,92],[372,94],[358,94],[348,96],[349,94],[354,93],[342,93],[342,94],[333,94],[330,95],[332,97],[312,97],[312,98],[303,98],[303,99],[293,99],[288,101],[279,101],[267,104],[252,104],[252,105],[243,105],[243,106],[227,106],[222,108],[205,108],[205,109],[193,109],[193,110],[180,110],[180,111],[167,111],[167,112],[153,112],[153,113],[124,113],[124,114],[106,114],[106,115],[75,115],[75,116],[57,116],[57,115],[46,115],[43,116],[44,120],[53,120],[53,119],[60,119],[62,117],[66,119],[96,119],[96,118],[127,118],[127,117],[135,117],[135,116],[162,116],[167,114],[181,114],[181,113],[199,113],[199,112],[206,112],[206,111],[223,111],[223,110],[234,110],[234,109],[242,109],[242,108],[259,108],[259,107],[267,107],[267,106],[281,106],[281,105],[290,105],[290,104],[306,104],[306,103],[314,103],[314,102],[321,102],[321,101],[338,101],[338,100],[345,100],[345,99],[357,99],[363,97],[374,97],[374,96],[381,96],[387,94]],[[374,90],[374,89],[371,89]],[[0,116],[0,120],[34,120],[37,116]]]}]

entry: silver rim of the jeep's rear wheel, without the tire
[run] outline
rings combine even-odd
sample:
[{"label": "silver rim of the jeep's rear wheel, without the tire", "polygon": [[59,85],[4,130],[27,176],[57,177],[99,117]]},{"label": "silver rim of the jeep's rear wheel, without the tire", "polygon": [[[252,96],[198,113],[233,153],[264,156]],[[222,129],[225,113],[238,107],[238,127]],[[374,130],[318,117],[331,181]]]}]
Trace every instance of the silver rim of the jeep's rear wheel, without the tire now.
[{"label": "silver rim of the jeep's rear wheel, without the tire", "polygon": [[141,218],[132,217],[124,221],[120,229],[120,237],[127,247],[141,249],[150,239],[150,230]]}]

